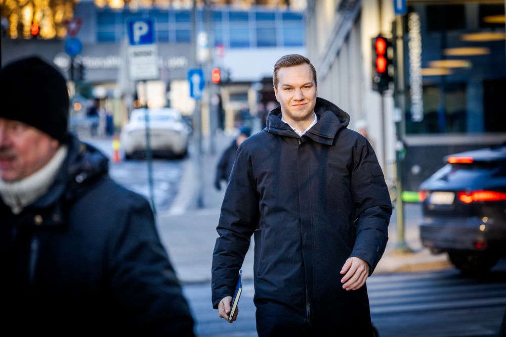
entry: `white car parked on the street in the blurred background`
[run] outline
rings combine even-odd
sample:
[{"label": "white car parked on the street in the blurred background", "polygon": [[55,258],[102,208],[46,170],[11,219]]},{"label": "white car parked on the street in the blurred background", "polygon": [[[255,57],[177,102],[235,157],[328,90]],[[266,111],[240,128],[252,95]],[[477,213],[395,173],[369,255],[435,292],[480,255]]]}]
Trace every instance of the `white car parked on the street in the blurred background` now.
[{"label": "white car parked on the street in the blurred background", "polygon": [[[188,153],[191,128],[181,113],[172,108],[147,109],[151,151],[155,156],[184,157]],[[146,152],[145,109],[132,111],[120,133],[125,159]]]}]

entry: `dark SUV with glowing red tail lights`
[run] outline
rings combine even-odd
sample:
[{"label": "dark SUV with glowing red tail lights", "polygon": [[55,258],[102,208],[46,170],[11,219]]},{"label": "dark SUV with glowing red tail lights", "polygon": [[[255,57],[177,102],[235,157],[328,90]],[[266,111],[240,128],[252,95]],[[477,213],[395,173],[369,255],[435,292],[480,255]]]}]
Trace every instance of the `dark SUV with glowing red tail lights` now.
[{"label": "dark SUV with glowing red tail lights", "polygon": [[420,185],[421,243],[463,272],[487,271],[506,255],[506,142],[445,161]]}]

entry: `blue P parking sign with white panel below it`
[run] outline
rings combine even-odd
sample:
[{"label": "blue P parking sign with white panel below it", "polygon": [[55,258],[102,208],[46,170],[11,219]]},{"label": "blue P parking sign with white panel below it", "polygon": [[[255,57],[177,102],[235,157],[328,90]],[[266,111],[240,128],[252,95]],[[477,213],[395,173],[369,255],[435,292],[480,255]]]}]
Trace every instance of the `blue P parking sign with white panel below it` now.
[{"label": "blue P parking sign with white panel below it", "polygon": [[158,49],[153,20],[132,19],[126,25],[129,37],[130,78],[137,81],[158,79]]}]

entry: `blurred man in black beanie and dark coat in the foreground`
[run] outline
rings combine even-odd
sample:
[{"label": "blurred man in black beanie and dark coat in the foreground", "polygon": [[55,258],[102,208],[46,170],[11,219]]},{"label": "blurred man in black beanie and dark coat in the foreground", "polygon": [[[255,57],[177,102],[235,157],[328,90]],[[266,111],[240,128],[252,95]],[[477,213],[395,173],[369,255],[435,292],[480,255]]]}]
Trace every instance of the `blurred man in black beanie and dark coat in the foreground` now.
[{"label": "blurred man in black beanie and dark coat in the foreground", "polygon": [[148,202],[67,132],[63,76],[27,58],[0,90],[2,334],[193,336]]}]

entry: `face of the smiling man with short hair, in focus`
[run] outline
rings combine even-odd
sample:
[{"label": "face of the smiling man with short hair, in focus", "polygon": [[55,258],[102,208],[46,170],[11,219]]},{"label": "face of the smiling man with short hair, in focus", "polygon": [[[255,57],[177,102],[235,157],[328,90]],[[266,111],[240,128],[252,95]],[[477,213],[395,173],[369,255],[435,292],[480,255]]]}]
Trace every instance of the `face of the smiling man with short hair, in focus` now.
[{"label": "face of the smiling man with short hair, in focus", "polygon": [[312,121],[318,91],[308,64],[278,70],[274,88],[283,118],[289,123]]}]

